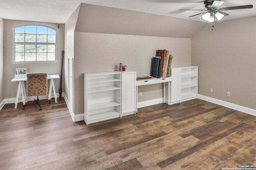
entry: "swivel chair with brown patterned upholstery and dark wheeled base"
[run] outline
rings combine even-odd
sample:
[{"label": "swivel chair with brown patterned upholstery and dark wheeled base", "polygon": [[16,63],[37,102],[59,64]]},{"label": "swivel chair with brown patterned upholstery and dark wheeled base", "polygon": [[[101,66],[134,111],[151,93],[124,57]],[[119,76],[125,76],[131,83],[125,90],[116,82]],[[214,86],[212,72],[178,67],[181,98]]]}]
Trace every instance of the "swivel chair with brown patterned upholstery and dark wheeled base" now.
[{"label": "swivel chair with brown patterned upholstery and dark wheeled base", "polygon": [[27,106],[38,105],[42,110],[42,104],[51,104],[52,100],[39,100],[38,96],[44,96],[48,92],[47,73],[34,72],[27,74],[27,96],[37,96],[37,99],[32,103],[24,104],[23,109]]}]

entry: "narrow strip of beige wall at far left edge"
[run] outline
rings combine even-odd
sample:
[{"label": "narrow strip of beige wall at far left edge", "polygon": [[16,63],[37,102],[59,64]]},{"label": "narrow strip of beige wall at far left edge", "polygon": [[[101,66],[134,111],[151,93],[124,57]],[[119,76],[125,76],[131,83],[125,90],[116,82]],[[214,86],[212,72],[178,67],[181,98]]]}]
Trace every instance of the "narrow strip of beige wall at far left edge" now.
[{"label": "narrow strip of beige wall at far left edge", "polygon": [[0,103],[4,100],[4,19],[0,17]]}]

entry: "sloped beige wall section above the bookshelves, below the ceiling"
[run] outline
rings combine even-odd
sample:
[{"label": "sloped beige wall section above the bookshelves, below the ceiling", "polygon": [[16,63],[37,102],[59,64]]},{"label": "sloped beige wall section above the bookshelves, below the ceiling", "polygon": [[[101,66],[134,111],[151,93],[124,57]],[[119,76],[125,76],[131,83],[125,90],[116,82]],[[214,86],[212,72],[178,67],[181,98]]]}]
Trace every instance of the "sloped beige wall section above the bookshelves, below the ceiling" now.
[{"label": "sloped beige wall section above the bookshelves, below the ceiling", "polygon": [[81,4],[76,31],[191,38],[205,22]]}]

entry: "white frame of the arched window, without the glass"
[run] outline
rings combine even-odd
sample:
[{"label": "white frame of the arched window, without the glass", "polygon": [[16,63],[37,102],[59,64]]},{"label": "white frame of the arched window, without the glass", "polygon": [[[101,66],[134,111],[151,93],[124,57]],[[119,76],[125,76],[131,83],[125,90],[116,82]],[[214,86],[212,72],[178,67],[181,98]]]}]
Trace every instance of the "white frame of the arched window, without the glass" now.
[{"label": "white frame of the arched window, without the glass", "polygon": [[[28,42],[15,42],[15,28],[18,28],[18,27],[23,27],[23,26],[41,26],[41,27],[46,27],[47,29],[50,28],[50,29],[54,29],[56,31],[56,41],[55,43],[28,43]],[[24,33],[24,35],[26,35],[26,33]],[[40,33],[36,33],[35,34],[36,36],[37,35],[41,35]],[[48,35],[48,33],[46,34]],[[50,34],[49,34],[50,35]],[[55,59],[54,61],[16,61],[15,57],[16,57],[16,49],[15,49],[15,46],[16,44],[31,44],[31,45],[55,45]],[[32,63],[32,64],[38,64],[38,63],[57,63],[57,49],[58,49],[58,31],[57,29],[53,28],[53,27],[49,27],[49,26],[46,26],[46,25],[35,25],[35,24],[28,24],[28,25],[18,25],[16,27],[13,27],[12,28],[12,63],[13,64],[26,64],[26,63]],[[36,52],[37,54],[37,52]]]}]

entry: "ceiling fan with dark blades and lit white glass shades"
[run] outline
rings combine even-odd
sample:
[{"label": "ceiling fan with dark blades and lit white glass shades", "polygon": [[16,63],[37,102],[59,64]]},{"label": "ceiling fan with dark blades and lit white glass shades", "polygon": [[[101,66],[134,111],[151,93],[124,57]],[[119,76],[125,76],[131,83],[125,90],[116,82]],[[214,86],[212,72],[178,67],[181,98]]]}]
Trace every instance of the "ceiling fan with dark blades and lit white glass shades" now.
[{"label": "ceiling fan with dark blades and lit white glass shades", "polygon": [[220,6],[224,3],[222,0],[205,0],[204,6],[206,10],[198,10],[198,11],[204,11],[196,15],[192,15],[189,17],[197,16],[202,14],[202,19],[204,21],[208,21],[210,23],[215,21],[215,18],[220,21],[224,18],[224,16],[228,16],[229,14],[223,12],[227,10],[239,10],[239,9],[248,9],[252,8],[252,5],[242,5],[242,6],[230,6],[230,7],[224,7],[220,8]]}]

